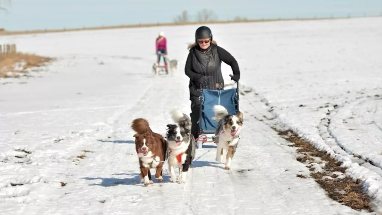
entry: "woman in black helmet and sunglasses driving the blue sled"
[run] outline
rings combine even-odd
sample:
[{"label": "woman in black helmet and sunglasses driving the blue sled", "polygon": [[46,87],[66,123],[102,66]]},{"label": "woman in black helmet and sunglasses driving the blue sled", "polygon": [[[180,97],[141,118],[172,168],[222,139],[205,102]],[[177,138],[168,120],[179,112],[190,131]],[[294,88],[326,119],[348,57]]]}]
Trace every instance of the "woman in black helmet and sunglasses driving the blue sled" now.
[{"label": "woman in black helmet and sunglasses driving the blue sled", "polygon": [[222,61],[230,65],[233,76],[231,80],[239,81],[240,70],[236,59],[225,49],[217,46],[212,40],[212,32],[206,26],[196,29],[195,42],[188,46],[189,54],[186,60],[185,73],[190,78],[189,91],[191,100],[191,134],[199,137],[198,121],[201,88],[218,90],[224,88],[222,76]]}]

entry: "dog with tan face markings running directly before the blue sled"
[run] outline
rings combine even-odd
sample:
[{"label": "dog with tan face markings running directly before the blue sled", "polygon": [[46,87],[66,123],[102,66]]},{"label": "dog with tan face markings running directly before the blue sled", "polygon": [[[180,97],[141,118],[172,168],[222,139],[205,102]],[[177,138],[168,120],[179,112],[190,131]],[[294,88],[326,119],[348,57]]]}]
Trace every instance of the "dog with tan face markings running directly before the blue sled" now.
[{"label": "dog with tan face markings running directly before the blue sled", "polygon": [[215,105],[214,112],[215,116],[212,119],[218,121],[214,140],[217,144],[216,161],[223,163],[223,149],[228,150],[225,158],[225,169],[229,170],[243,125],[243,113],[239,111],[236,115],[228,114],[227,109],[221,105]]}]

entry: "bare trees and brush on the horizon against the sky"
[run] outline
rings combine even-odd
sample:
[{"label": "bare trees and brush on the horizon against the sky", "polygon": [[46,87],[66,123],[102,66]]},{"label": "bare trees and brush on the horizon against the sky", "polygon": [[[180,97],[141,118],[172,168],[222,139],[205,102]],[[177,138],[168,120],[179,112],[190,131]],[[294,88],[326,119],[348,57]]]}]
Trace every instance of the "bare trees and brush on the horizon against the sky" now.
[{"label": "bare trees and brush on the horizon against the sky", "polygon": [[[183,10],[180,15],[174,18],[174,23],[188,23],[192,21],[206,22],[206,21],[216,21],[218,19],[218,16],[214,13],[214,11],[207,10],[207,9],[198,11],[196,16],[194,16],[194,19],[192,19],[191,17],[192,16],[188,13],[188,11]],[[247,20],[247,18],[241,18],[240,16],[236,16],[234,20],[235,21]]]}]

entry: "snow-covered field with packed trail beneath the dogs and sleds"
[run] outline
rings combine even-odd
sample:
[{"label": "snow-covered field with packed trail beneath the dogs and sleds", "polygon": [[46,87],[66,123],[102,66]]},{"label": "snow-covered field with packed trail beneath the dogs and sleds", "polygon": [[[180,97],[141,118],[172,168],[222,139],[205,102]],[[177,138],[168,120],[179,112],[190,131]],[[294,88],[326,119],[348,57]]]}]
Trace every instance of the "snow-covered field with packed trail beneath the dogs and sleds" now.
[{"label": "snow-covered field with packed trail beneath the dogs and sleds", "polygon": [[[343,161],[382,205],[382,18],[209,26],[256,92],[241,96],[232,169],[209,144],[186,184],[170,181],[166,163],[163,182],[148,187],[129,125],[145,117],[165,134],[171,109],[190,112],[183,69],[198,26],[0,37],[57,58],[34,77],[0,80],[0,214],[374,214],[296,177],[309,170],[295,148],[257,119],[273,107],[280,125]],[[151,75],[159,31],[180,61],[176,77]]]}]

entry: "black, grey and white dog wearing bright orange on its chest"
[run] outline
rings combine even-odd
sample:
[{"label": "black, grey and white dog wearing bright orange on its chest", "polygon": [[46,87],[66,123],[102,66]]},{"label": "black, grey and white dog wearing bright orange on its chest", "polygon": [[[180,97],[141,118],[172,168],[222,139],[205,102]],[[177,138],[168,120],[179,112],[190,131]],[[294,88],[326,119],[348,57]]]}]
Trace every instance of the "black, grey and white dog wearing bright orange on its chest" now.
[{"label": "black, grey and white dog wearing bright orange on its chest", "polygon": [[[168,142],[168,169],[171,180],[185,183],[188,169],[195,158],[195,139],[191,135],[191,119],[188,115],[174,109],[172,118],[176,124],[168,124],[166,138]],[[179,176],[176,178],[174,167],[179,168]]]}]

